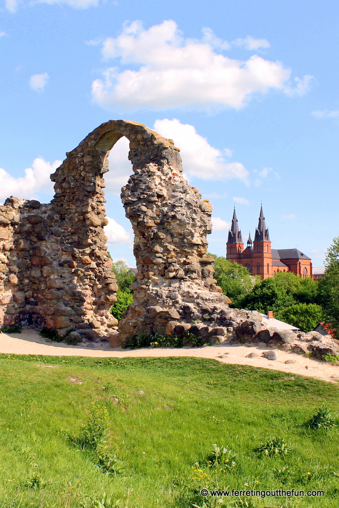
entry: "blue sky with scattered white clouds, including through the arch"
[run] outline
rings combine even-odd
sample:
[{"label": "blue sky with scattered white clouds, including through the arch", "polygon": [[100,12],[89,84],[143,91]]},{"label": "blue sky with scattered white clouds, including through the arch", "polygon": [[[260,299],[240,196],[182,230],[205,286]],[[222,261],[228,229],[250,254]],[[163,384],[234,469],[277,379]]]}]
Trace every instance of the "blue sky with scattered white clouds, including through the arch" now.
[{"label": "blue sky with scattered white clouds, including through the arch", "polygon": [[[0,201],[44,202],[49,174],[100,123],[130,119],[181,148],[214,206],[224,255],[233,204],[246,242],[260,202],[274,248],[321,266],[338,235],[337,2],[7,0],[1,7]],[[135,266],[111,152],[107,234]]]}]

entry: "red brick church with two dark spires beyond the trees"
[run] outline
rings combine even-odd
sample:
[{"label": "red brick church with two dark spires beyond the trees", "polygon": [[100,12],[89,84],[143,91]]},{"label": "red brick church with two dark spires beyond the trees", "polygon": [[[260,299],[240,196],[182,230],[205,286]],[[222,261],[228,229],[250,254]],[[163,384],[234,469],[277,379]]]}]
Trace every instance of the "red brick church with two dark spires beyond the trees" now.
[{"label": "red brick church with two dark spires beyond the trees", "polygon": [[300,250],[271,248],[262,207],[254,242],[249,235],[245,249],[234,208],[226,258],[232,263],[245,266],[253,275],[260,275],[262,279],[273,277],[276,272],[293,272],[301,277],[312,277],[311,259]]}]

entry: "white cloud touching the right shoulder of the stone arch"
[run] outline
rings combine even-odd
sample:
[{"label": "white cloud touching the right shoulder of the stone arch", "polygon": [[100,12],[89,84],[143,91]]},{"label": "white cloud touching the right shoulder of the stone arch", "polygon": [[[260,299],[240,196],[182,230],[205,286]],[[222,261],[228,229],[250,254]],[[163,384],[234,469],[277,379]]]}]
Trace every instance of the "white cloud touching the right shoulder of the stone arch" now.
[{"label": "white cloud touching the right shoulder of the stone arch", "polygon": [[161,136],[173,139],[180,148],[185,175],[203,180],[239,178],[247,182],[247,169],[240,162],[226,161],[220,150],[196,133],[193,125],[164,118],[156,120],[153,129]]}]

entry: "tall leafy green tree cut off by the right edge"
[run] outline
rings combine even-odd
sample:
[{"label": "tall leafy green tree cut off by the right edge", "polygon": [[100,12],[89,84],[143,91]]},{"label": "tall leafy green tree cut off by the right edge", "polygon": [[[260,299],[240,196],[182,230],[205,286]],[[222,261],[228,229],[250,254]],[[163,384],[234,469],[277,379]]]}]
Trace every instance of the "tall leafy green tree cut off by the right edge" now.
[{"label": "tall leafy green tree cut off by the right edge", "polygon": [[319,280],[319,296],[325,310],[325,321],[339,339],[339,237],[327,251],[325,277]]}]

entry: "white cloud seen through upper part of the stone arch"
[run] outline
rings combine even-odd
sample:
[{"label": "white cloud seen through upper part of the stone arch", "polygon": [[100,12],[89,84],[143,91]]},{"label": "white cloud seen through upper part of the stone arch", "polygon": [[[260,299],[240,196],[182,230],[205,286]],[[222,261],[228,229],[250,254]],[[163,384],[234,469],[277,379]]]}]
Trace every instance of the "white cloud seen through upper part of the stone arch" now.
[{"label": "white cloud seen through upper part of the stone arch", "polygon": [[129,141],[122,137],[116,142],[108,157],[109,172],[105,173],[106,195],[120,196],[121,187],[126,185],[128,178],[133,174],[128,152]]}]

